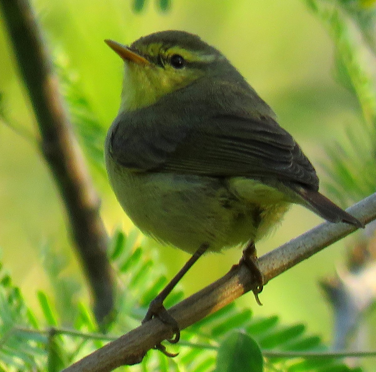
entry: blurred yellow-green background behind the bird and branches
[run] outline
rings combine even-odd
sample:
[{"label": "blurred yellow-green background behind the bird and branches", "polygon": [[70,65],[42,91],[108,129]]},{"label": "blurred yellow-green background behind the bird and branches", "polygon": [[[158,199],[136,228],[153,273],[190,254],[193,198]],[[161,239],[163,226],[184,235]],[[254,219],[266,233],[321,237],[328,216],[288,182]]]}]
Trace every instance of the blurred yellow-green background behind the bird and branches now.
[{"label": "blurred yellow-green background behind the bird and branches", "polygon": [[[327,2],[329,7],[330,3]],[[102,197],[101,214],[110,233],[117,227],[125,231],[133,231],[134,227],[115,200],[101,165],[103,139],[120,102],[123,69],[121,60],[103,39],[128,44],[157,30],[193,32],[220,49],[271,105],[282,127],[302,146],[317,167],[321,184],[330,185],[321,190],[339,203],[348,204],[361,198],[361,193],[341,198],[338,185],[344,181],[343,173],[337,172],[339,178],[334,182],[329,177],[328,173],[336,170],[338,162],[330,163],[328,152],[333,157],[341,154],[336,150],[341,146],[338,144],[348,141],[349,137],[355,140],[358,134],[372,139],[372,125],[368,128],[365,125],[365,122],[372,123],[372,115],[370,118],[363,116],[365,111],[353,94],[353,83],[344,83],[346,74],[341,76],[340,72],[346,66],[338,68],[338,45],[335,46],[331,37],[335,30],[330,29],[327,13],[321,11],[316,2],[284,0],[282,6],[279,0],[34,0],[32,4],[61,70],[62,91],[70,101],[76,99],[74,107],[79,107],[71,114],[79,138],[85,139],[83,148]],[[364,26],[364,34],[369,36],[368,47],[372,50],[374,30],[369,25],[373,23],[365,14],[373,16],[374,2],[343,0],[337,4]],[[368,55],[361,57],[370,58]],[[61,200],[49,170],[36,151],[38,133],[34,117],[1,18],[0,66],[1,111],[12,127],[5,123],[0,125],[3,264],[21,287],[27,302],[32,304],[38,289],[52,291],[41,258],[45,257],[46,246],[53,247],[67,260],[60,275],[80,283],[77,298],[89,301],[79,264],[70,249]],[[372,75],[375,71],[370,68],[368,72]],[[84,118],[81,125],[80,118]],[[359,149],[364,145],[362,138],[359,137]],[[372,148],[372,142],[367,143],[370,147],[365,147],[365,152]],[[348,156],[353,157],[352,153]],[[341,165],[338,164],[337,170]],[[365,173],[361,171],[361,163],[354,169],[356,183]],[[319,222],[320,218],[311,212],[293,206],[276,232],[258,244],[259,255]],[[138,239],[151,250],[159,247],[150,239],[141,236]],[[322,335],[329,343],[331,312],[323,301],[317,281],[331,274],[335,265],[343,264],[345,245],[351,244],[353,239],[332,245],[268,283],[261,295],[264,306],[257,306],[252,295],[240,298],[239,306],[251,307],[255,316],[278,314],[282,322],[303,322],[310,332]],[[188,259],[188,255],[170,247],[163,247],[159,255],[169,278]],[[222,255],[208,254],[200,259],[182,280],[186,294],[223,275],[238,262],[240,255],[240,250],[231,249]],[[370,324],[375,329],[376,319],[370,319]],[[376,335],[372,337],[374,345]]]}]

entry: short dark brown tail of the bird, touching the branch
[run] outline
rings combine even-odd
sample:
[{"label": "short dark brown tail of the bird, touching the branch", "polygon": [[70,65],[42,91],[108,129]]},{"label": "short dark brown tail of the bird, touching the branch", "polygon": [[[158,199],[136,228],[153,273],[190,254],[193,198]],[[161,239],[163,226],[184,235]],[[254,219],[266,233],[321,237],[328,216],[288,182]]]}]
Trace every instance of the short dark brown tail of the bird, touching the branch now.
[{"label": "short dark brown tail of the bird, touching the branch", "polygon": [[321,195],[318,191],[308,190],[303,187],[294,188],[294,190],[308,202],[308,208],[312,209],[315,213],[325,218],[329,222],[346,222],[356,227],[363,227],[357,218],[351,214],[345,212],[338,205],[335,205],[324,195]]}]

